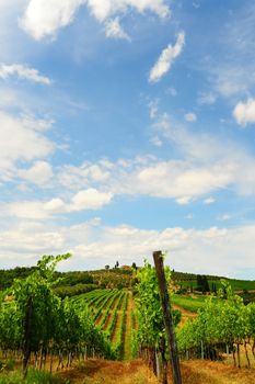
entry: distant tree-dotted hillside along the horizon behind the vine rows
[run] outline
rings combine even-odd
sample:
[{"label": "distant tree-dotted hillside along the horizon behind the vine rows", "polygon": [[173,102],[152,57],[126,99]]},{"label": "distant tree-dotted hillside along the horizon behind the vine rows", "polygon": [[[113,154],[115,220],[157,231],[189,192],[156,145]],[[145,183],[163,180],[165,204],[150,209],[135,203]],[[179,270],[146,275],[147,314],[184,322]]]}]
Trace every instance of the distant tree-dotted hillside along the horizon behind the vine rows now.
[{"label": "distant tree-dotted hillside along the horizon behind the vine rows", "polygon": [[[108,266],[106,266],[108,267]],[[139,268],[138,268],[139,269]],[[0,290],[4,290],[12,285],[14,279],[25,279],[36,267],[16,267],[10,270],[0,270]],[[131,287],[136,284],[136,276],[131,267],[125,266],[125,268],[105,268],[94,271],[70,271],[70,272],[55,272],[55,279],[59,279],[57,284],[57,292],[60,296],[72,296],[81,293],[89,292],[93,289],[123,289]],[[173,284],[181,290],[196,290],[197,278],[199,275],[188,272],[172,271],[171,278]],[[233,291],[254,291],[255,280],[237,280],[229,279],[222,275],[208,275],[206,276],[210,290],[219,289],[221,279],[228,281]]]}]

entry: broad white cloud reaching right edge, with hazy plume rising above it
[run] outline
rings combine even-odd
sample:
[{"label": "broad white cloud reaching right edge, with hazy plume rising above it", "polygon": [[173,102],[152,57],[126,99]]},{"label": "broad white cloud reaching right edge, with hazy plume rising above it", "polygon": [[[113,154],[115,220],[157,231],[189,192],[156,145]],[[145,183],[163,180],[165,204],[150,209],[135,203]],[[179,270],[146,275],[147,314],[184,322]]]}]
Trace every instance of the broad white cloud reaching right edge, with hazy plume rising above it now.
[{"label": "broad white cloud reaching right edge, with hazy plume rising above it", "polygon": [[[171,145],[175,156],[103,159],[80,167],[66,166],[58,182],[66,189],[96,188],[114,195],[147,195],[188,204],[201,199],[213,203],[212,193],[230,189],[240,195],[255,193],[255,157],[229,138],[175,125],[167,114],[153,123],[155,146]],[[153,182],[152,182],[153,181]]]}]

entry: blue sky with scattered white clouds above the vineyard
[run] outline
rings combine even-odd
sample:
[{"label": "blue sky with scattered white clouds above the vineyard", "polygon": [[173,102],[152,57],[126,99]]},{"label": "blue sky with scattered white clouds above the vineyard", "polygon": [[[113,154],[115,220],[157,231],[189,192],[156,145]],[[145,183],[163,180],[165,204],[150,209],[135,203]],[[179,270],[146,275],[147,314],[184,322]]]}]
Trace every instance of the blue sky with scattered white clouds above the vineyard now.
[{"label": "blue sky with scattered white clouds above the vineyard", "polygon": [[0,268],[255,280],[255,3],[0,0]]}]

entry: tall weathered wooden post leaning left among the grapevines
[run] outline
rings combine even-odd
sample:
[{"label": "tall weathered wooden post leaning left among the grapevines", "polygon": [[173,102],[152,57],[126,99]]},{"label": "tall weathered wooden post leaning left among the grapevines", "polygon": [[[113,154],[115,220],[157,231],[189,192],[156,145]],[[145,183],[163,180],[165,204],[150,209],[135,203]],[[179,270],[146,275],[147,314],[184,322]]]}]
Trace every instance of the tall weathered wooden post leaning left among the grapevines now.
[{"label": "tall weathered wooden post leaning left among the grapevines", "polygon": [[173,316],[170,307],[170,297],[169,297],[169,291],[166,286],[165,274],[164,274],[164,263],[163,263],[162,252],[161,251],[153,252],[153,259],[154,259],[155,271],[157,271],[158,281],[159,281],[161,305],[163,309],[167,343],[170,348],[170,358],[172,362],[174,384],[182,384],[178,350],[177,350],[177,343],[176,343],[175,331],[174,331]]}]

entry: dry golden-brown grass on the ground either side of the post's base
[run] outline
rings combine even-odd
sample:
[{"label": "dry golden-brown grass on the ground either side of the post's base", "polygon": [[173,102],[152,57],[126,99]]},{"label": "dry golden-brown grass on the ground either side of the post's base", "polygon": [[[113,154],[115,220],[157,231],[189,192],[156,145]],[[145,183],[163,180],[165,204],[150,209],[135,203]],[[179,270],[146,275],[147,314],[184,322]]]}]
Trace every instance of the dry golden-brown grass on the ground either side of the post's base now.
[{"label": "dry golden-brown grass on the ground either side of the post's base", "polygon": [[[158,384],[141,360],[114,362],[89,360],[85,365],[59,373],[76,384]],[[255,384],[255,370],[235,369],[221,362],[182,362],[183,384]],[[171,373],[169,384],[172,384]]]}]

